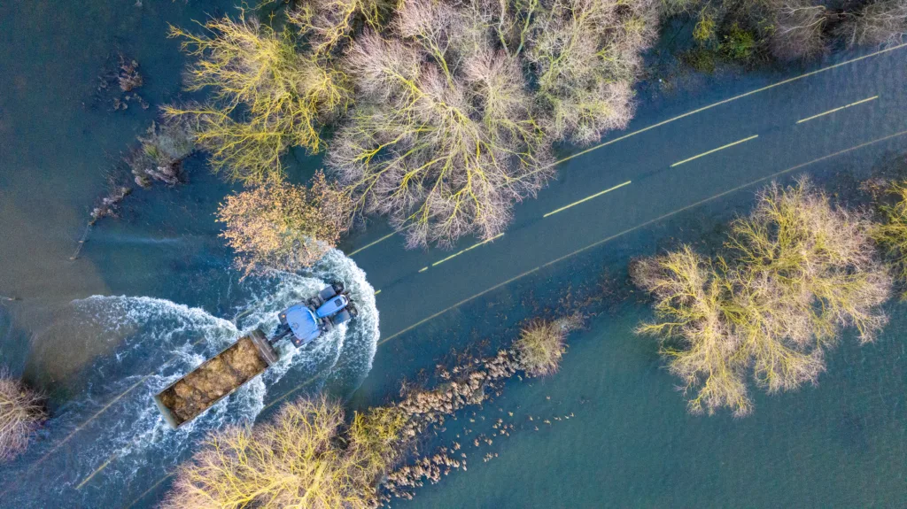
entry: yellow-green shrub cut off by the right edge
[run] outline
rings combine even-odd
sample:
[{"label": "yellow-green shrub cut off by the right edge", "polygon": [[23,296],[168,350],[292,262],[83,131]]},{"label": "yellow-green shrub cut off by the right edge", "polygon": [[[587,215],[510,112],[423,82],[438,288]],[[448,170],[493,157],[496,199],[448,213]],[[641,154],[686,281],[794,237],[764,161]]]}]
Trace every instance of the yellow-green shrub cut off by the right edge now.
[{"label": "yellow-green shrub cut off by the right edge", "polygon": [[[907,284],[907,181],[892,182],[888,194],[894,203],[880,206],[883,221],[873,226],[870,235],[883,248],[895,278],[904,285]],[[901,298],[907,299],[907,290]]]}]

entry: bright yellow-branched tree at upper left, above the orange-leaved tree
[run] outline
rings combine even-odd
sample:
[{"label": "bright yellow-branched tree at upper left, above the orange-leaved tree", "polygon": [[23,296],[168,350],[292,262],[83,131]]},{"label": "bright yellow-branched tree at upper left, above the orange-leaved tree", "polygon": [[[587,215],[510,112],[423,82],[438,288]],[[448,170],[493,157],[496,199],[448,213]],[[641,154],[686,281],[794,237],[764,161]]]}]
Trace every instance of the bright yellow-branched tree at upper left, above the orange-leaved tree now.
[{"label": "bright yellow-branched tree at upper left, above the orange-leaved tree", "polygon": [[245,184],[278,182],[280,158],[291,147],[316,153],[322,125],[346,110],[346,74],[325,58],[301,51],[298,34],[239,17],[212,18],[205,34],[171,26],[171,37],[194,58],[189,91],[210,89],[204,104],[167,106],[169,117],[190,121],[211,166]]}]

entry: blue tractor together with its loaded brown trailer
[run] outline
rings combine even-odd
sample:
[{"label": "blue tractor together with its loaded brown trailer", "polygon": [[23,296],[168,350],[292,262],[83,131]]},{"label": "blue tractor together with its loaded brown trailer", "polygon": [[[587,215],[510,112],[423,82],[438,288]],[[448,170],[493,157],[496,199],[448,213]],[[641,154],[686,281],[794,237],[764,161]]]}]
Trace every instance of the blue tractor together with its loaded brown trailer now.
[{"label": "blue tractor together with its loaded brown trailer", "polygon": [[342,283],[327,286],[304,303],[279,315],[278,330],[268,339],[257,329],[204,361],[198,368],[154,396],[154,403],[171,428],[182,427],[221,399],[254,379],[278,361],[274,344],[289,338],[307,346],[336,325],[356,316]]}]

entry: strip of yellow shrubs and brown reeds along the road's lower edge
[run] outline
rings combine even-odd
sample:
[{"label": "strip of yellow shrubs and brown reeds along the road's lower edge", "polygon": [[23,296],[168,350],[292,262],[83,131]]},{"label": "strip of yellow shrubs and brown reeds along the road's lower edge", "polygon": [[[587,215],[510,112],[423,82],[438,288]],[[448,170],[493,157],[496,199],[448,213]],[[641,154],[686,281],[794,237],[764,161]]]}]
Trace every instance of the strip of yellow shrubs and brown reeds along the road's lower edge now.
[{"label": "strip of yellow shrubs and brown reeds along the road's lower edge", "polygon": [[[180,467],[162,506],[358,508],[412,499],[424,482],[437,483],[467,467],[466,453],[454,452],[462,448],[459,442],[425,449],[429,433],[446,419],[464,417],[465,408],[493,401],[503,382],[520,371],[553,374],[567,333],[581,321],[574,315],[532,322],[512,349],[489,358],[460,356],[450,370],[438,366],[438,387],[404,385],[401,400],[352,418],[322,395],[285,405],[272,422],[213,432]],[[500,419],[493,435],[509,436],[508,427]],[[474,441],[478,447],[480,438]],[[483,441],[493,443],[489,437]]]}]

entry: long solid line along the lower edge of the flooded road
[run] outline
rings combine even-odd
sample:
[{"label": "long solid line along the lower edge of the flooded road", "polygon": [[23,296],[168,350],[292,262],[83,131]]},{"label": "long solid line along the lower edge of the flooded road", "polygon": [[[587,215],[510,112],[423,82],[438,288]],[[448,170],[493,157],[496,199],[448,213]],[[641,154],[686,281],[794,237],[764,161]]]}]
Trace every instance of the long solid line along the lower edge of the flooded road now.
[{"label": "long solid line along the lower edge of the flooded road", "polygon": [[419,325],[422,325],[424,322],[429,322],[430,320],[432,320],[432,319],[434,319],[434,318],[437,318],[438,316],[441,316],[441,315],[444,314],[445,312],[449,312],[449,311],[451,311],[451,310],[453,310],[453,309],[455,309],[455,308],[458,308],[458,307],[460,307],[461,305],[463,305],[464,303],[468,303],[468,302],[470,302],[470,301],[472,301],[472,300],[474,300],[474,299],[476,299],[476,298],[478,298],[478,297],[483,296],[485,293],[489,293],[489,292],[492,292],[493,290],[496,290],[496,289],[498,289],[498,288],[501,288],[501,287],[502,287],[503,285],[505,285],[505,284],[512,283],[512,282],[514,282],[514,281],[516,281],[516,280],[518,280],[518,279],[521,279],[522,277],[525,277],[525,276],[527,276],[527,275],[529,275],[529,274],[532,274],[532,273],[534,273],[534,272],[537,272],[537,271],[541,270],[542,268],[545,268],[545,267],[547,267],[547,266],[549,266],[549,265],[557,264],[558,262],[561,262],[562,260],[565,260],[565,259],[567,259],[567,258],[570,258],[571,256],[579,255],[579,254],[582,253],[583,251],[587,251],[587,250],[589,250],[589,249],[591,249],[591,248],[593,248],[593,247],[595,247],[595,246],[597,246],[597,245],[605,244],[605,243],[610,242],[611,240],[614,240],[614,239],[616,239],[616,238],[618,238],[618,237],[620,237],[620,236],[623,236],[623,235],[627,235],[627,234],[629,234],[629,233],[632,233],[632,232],[634,232],[634,231],[636,231],[636,230],[639,230],[639,228],[644,228],[644,227],[649,226],[649,225],[651,225],[651,224],[653,224],[653,223],[658,223],[658,221],[661,221],[661,220],[663,220],[663,219],[667,219],[667,218],[670,217],[670,216],[675,216],[675,215],[677,215],[677,214],[679,214],[679,213],[681,213],[681,212],[684,212],[684,211],[686,211],[686,210],[689,210],[690,208],[694,208],[694,207],[696,207],[696,206],[700,206],[700,205],[706,204],[706,203],[708,203],[708,202],[710,202],[710,201],[712,201],[712,200],[716,200],[717,198],[725,197],[725,196],[727,196],[727,195],[729,195],[729,194],[731,194],[731,193],[735,193],[736,191],[739,191],[739,190],[744,189],[744,188],[746,188],[746,187],[755,186],[756,184],[758,184],[758,183],[760,183],[760,182],[765,182],[766,180],[768,180],[768,179],[770,179],[770,178],[779,177],[779,176],[781,176],[781,175],[784,175],[785,173],[790,173],[791,171],[795,171],[795,170],[800,169],[800,168],[805,168],[805,167],[807,167],[807,166],[809,166],[809,165],[811,165],[811,164],[815,164],[815,163],[817,163],[817,162],[824,161],[825,159],[834,158],[834,157],[836,157],[836,156],[840,156],[840,155],[842,155],[842,154],[846,154],[847,152],[851,152],[851,151],[856,150],[856,149],[863,149],[863,147],[868,147],[868,146],[873,145],[873,144],[875,144],[875,143],[882,142],[882,141],[884,141],[884,140],[886,140],[886,139],[897,138],[897,137],[903,136],[903,135],[905,135],[905,134],[907,134],[907,130],[902,130],[901,132],[897,132],[897,133],[894,133],[894,134],[885,136],[885,137],[883,137],[883,138],[873,139],[872,141],[867,141],[867,142],[862,143],[862,144],[860,144],[860,145],[856,145],[856,146],[854,146],[854,147],[851,147],[850,149],[839,150],[839,151],[837,151],[837,152],[834,152],[834,154],[829,154],[829,155],[823,156],[823,157],[821,157],[821,158],[815,158],[815,159],[813,159],[813,160],[811,160],[811,161],[808,161],[808,162],[805,162],[805,163],[798,164],[798,165],[796,165],[796,166],[794,166],[794,167],[787,168],[787,169],[782,170],[782,171],[779,171],[779,172],[777,172],[777,173],[773,173],[772,175],[769,175],[768,177],[759,178],[759,179],[753,180],[752,182],[748,182],[748,183],[746,183],[746,184],[744,184],[744,185],[742,185],[742,186],[737,186],[737,187],[734,187],[733,189],[728,189],[727,191],[724,191],[724,192],[722,192],[722,193],[719,193],[719,194],[717,194],[717,195],[715,195],[715,196],[713,196],[713,197],[707,197],[707,198],[705,198],[705,199],[699,200],[699,201],[697,201],[696,203],[694,203],[694,204],[692,204],[692,205],[688,205],[688,206],[684,206],[684,207],[682,207],[682,208],[678,208],[677,210],[675,210],[675,211],[673,211],[673,212],[668,212],[668,214],[665,214],[664,216],[658,216],[658,217],[656,217],[655,219],[651,219],[651,220],[646,221],[645,223],[642,223],[642,224],[640,224],[640,225],[633,226],[632,228],[626,229],[626,230],[620,232],[619,234],[611,235],[611,236],[609,236],[609,237],[606,237],[606,238],[604,238],[604,239],[601,239],[601,240],[598,241],[598,242],[592,243],[592,244],[587,245],[587,246],[585,246],[585,247],[581,247],[580,249],[577,249],[576,251],[574,251],[574,252],[572,252],[572,253],[570,253],[570,254],[568,254],[568,255],[563,255],[563,256],[561,256],[560,258],[556,258],[556,259],[554,259],[554,260],[551,260],[551,262],[548,262],[548,263],[546,263],[546,264],[541,264],[541,265],[535,267],[534,269],[528,270],[528,271],[526,271],[526,272],[524,272],[524,273],[522,273],[522,274],[519,274],[519,275],[515,275],[515,276],[513,276],[512,278],[508,279],[507,281],[505,281],[505,282],[503,282],[503,283],[495,284],[494,286],[492,286],[491,288],[489,288],[489,289],[487,289],[487,290],[483,290],[482,292],[476,293],[476,294],[474,294],[474,295],[471,296],[471,297],[467,297],[467,298],[463,299],[462,301],[460,301],[459,303],[455,303],[455,304],[453,304],[452,306],[450,306],[450,307],[448,307],[448,308],[445,308],[445,309],[442,310],[442,311],[439,311],[439,312],[434,313],[433,315],[429,316],[428,318],[424,318],[423,320],[420,320],[419,322],[415,322],[413,325],[410,325],[409,327],[406,327],[406,328],[405,328],[404,330],[402,330],[402,331],[398,331],[398,332],[396,332],[395,334],[392,334],[392,335],[390,335],[390,336],[387,336],[385,339],[383,339],[383,340],[381,340],[381,341],[378,341],[378,345],[380,346],[380,345],[386,343],[387,341],[391,341],[391,340],[393,340],[394,338],[400,336],[401,334],[403,334],[403,333],[405,333],[405,332],[412,331],[413,329],[415,329],[415,328],[418,327]]}]

